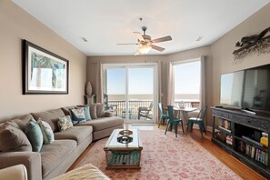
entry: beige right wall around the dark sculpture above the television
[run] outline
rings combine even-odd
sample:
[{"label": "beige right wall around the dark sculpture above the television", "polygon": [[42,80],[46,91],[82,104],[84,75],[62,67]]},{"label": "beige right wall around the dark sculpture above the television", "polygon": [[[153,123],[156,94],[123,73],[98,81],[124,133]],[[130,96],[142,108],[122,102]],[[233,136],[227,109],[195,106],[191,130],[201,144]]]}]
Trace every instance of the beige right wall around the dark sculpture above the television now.
[{"label": "beige right wall around the dark sculpture above the television", "polygon": [[211,45],[212,55],[212,105],[219,104],[220,75],[257,65],[270,63],[270,54],[248,55],[241,60],[234,60],[235,43],[246,35],[258,35],[270,26],[270,4],[250,16],[232,31]]}]

